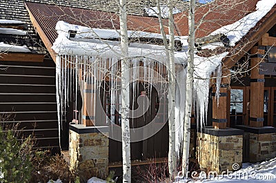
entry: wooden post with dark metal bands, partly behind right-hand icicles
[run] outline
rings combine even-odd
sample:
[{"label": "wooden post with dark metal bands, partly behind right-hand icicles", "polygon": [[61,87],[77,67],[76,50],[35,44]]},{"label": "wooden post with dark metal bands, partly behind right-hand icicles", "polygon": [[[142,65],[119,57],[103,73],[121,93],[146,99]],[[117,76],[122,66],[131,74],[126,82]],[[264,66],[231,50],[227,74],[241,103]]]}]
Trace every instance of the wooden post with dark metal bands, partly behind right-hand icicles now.
[{"label": "wooden post with dark metal bands, partly behind right-hand icicles", "polygon": [[[227,77],[226,77],[227,76]],[[227,124],[227,89],[230,84],[230,71],[224,71],[219,90],[219,101],[215,97],[215,88],[213,89],[213,128],[225,129]]]}]

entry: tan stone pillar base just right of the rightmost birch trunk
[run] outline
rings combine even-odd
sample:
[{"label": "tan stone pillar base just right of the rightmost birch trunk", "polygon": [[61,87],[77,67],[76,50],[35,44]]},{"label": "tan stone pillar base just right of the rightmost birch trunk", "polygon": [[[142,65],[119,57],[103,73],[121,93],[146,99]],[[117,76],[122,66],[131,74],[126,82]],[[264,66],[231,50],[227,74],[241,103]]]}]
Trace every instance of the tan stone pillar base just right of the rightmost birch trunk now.
[{"label": "tan stone pillar base just right of the rightmost birch trunk", "polygon": [[215,136],[197,133],[197,157],[205,171],[233,171],[233,164],[242,167],[242,135]]}]

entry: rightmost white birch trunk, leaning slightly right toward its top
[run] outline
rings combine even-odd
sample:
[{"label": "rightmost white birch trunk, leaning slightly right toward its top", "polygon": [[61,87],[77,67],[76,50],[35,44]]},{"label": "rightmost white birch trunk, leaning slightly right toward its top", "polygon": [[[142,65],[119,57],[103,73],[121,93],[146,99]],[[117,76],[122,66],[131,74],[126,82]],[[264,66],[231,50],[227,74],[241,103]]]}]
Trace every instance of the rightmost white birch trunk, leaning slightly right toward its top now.
[{"label": "rightmost white birch trunk, leaning slightly right toward its top", "polygon": [[186,80],[186,102],[184,117],[184,138],[182,155],[182,173],[188,173],[189,148],[190,148],[190,117],[192,115],[193,104],[193,80],[194,80],[194,52],[195,52],[195,0],[190,0],[188,14],[188,64]]}]

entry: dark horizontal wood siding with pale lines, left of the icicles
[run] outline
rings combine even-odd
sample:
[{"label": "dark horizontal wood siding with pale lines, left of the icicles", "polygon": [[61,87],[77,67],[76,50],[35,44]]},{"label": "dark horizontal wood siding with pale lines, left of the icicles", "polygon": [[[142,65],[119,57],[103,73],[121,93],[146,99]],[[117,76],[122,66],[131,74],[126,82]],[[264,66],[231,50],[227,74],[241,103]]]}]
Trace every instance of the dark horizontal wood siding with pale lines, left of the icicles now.
[{"label": "dark horizontal wood siding with pale lines, left of the icicles", "polygon": [[23,135],[34,133],[39,147],[59,147],[55,63],[0,62],[1,124],[17,124]]}]

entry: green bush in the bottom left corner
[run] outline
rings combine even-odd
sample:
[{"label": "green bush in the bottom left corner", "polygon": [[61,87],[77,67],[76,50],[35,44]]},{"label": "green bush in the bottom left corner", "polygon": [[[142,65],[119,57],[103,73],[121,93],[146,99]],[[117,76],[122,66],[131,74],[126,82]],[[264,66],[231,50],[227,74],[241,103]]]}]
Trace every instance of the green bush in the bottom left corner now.
[{"label": "green bush in the bottom left corner", "polygon": [[32,138],[19,143],[17,135],[0,126],[0,139],[0,182],[30,182]]}]

